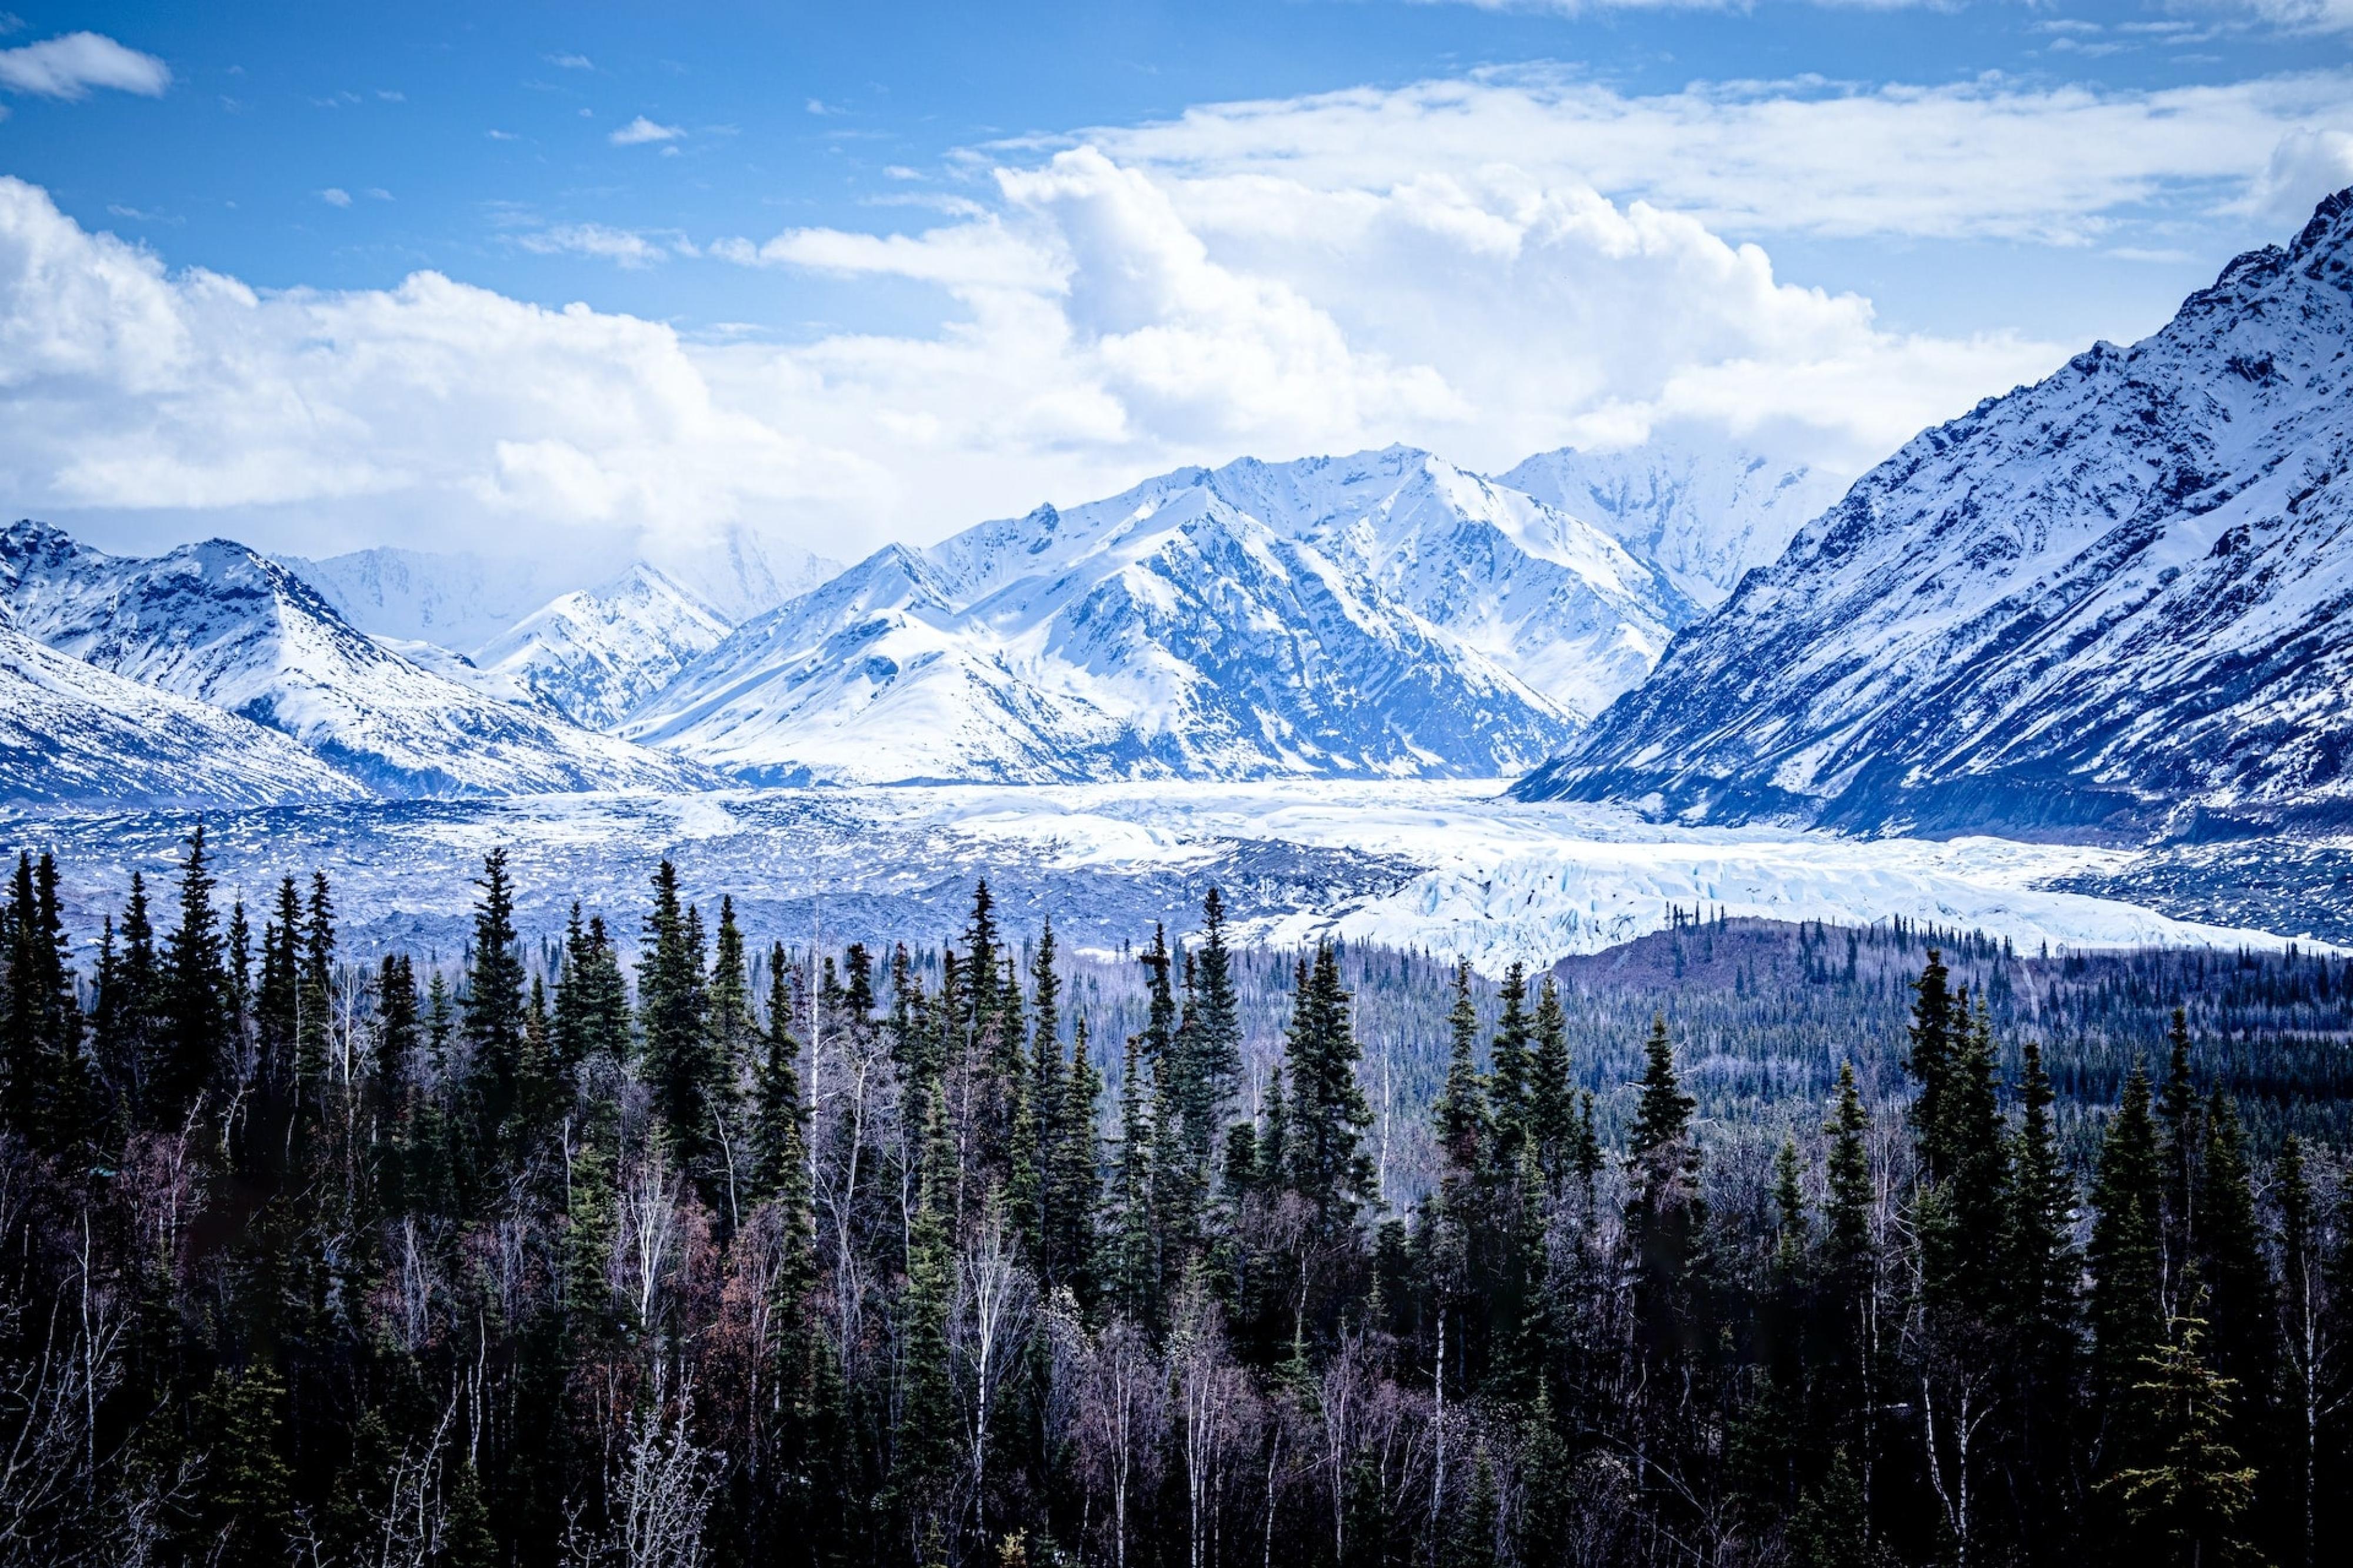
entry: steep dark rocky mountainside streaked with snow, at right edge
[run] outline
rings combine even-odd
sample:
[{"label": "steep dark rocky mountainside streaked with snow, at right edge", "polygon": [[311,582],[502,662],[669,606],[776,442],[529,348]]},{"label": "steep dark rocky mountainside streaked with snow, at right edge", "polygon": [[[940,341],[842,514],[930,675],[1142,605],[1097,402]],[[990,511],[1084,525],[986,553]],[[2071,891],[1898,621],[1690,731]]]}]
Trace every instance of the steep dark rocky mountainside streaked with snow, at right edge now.
[{"label": "steep dark rocky mountainside streaked with snow, at right edge", "polygon": [[1913,438],[1527,798],[2122,836],[2353,817],[2353,191]]}]

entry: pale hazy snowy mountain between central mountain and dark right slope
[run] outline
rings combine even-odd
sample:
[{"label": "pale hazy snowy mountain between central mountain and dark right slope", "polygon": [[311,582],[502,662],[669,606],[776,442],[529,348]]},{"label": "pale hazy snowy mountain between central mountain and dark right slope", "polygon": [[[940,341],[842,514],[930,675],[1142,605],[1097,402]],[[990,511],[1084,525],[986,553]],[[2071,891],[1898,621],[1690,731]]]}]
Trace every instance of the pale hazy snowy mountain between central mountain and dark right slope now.
[{"label": "pale hazy snowy mountain between central mountain and dark right slope", "polygon": [[1504,476],[1513,490],[1609,530],[1666,567],[1699,605],[1720,605],[1751,567],[1772,565],[1847,483],[1739,447],[1560,447]]}]

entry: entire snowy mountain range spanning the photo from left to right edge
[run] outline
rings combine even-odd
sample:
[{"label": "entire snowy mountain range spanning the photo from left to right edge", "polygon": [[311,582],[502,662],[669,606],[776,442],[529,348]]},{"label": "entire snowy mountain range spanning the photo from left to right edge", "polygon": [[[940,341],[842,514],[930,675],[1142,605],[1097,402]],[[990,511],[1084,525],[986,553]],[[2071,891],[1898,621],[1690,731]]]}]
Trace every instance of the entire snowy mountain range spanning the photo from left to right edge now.
[{"label": "entire snowy mountain range spanning the photo from left to right edge", "polygon": [[544,598],[454,556],[120,558],[19,523],[0,756],[35,803],[1525,772],[1525,800],[1692,822],[2327,826],[2348,469],[2353,191],[1842,494],[1732,447],[1501,478],[1386,447],[847,570],[722,532],[692,574]]}]

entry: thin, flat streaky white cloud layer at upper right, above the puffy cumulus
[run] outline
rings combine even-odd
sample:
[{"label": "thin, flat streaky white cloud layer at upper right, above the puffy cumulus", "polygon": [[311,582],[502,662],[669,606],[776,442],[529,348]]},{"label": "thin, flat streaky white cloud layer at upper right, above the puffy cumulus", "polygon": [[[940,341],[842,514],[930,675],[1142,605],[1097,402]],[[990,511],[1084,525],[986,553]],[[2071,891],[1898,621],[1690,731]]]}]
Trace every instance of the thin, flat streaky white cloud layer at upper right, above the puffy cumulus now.
[{"label": "thin, flat streaky white cloud layer at upper right, above the puffy cumulus", "polygon": [[1228,177],[1388,188],[1508,165],[1645,198],[1732,233],[2089,242],[2127,214],[2198,212],[2254,181],[2280,137],[2353,129],[2353,73],[2099,92],[1981,78],[1946,87],[1718,82],[1626,97],[1558,68],[1398,89],[1214,104],[1087,132],[1174,177],[1214,217]]}]

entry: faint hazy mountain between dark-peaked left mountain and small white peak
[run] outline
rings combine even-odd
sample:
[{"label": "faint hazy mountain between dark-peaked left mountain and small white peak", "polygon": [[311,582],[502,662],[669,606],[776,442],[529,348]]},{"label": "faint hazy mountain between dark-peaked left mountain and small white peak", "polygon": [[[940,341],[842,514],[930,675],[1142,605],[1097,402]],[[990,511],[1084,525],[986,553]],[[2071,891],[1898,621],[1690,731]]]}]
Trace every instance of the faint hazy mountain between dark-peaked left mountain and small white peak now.
[{"label": "faint hazy mountain between dark-peaked left mountain and small white peak", "polygon": [[461,655],[579,586],[569,565],[504,556],[384,546],[322,560],[278,560],[360,631]]}]

